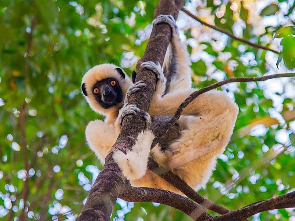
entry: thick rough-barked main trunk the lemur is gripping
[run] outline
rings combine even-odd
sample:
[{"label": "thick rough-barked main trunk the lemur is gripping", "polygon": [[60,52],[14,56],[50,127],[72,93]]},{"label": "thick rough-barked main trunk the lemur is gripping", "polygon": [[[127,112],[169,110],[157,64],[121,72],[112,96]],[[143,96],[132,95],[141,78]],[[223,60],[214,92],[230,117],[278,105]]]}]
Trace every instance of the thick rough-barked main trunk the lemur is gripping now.
[{"label": "thick rough-barked main trunk the lemur is gripping", "polygon": [[[160,0],[155,9],[155,16],[159,14],[172,14],[175,18],[183,5],[184,0]],[[129,103],[136,104],[143,111],[148,111],[150,101],[156,85],[156,77],[152,71],[140,68],[144,61],[160,61],[163,64],[165,52],[171,39],[171,28],[161,23],[153,27],[145,53],[137,62],[136,81],[142,80],[147,87],[131,95]],[[136,137],[144,129],[144,121],[140,115],[124,117],[121,131],[116,143],[106,156],[105,165],[92,186],[86,204],[77,220],[104,220],[109,221],[110,214],[118,195],[125,185],[125,178],[119,166],[114,162],[112,154],[115,150],[126,153],[132,148]]]}]

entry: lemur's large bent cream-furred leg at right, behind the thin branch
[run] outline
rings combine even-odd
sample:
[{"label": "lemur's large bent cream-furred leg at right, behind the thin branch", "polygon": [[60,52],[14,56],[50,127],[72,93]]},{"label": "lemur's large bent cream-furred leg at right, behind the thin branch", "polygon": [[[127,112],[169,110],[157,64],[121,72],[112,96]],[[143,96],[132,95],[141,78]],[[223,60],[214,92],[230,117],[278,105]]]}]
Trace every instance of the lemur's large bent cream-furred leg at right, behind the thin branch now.
[{"label": "lemur's large bent cream-furred leg at right, behind the thin branch", "polygon": [[[171,105],[176,100],[177,94],[165,102]],[[161,108],[165,110],[165,107]],[[184,109],[177,122],[185,128],[180,138],[165,152],[161,152],[159,146],[152,150],[155,160],[191,187],[199,189],[207,183],[217,156],[228,144],[237,113],[237,105],[222,91],[201,94]]]}]

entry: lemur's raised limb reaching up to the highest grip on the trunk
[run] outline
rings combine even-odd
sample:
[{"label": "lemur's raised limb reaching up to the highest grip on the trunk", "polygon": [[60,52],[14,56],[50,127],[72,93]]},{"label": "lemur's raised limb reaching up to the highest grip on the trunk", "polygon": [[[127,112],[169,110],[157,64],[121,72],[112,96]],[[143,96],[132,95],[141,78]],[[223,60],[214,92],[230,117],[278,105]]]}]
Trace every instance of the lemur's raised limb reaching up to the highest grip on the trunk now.
[{"label": "lemur's raised limb reaching up to the highest grip on the trunk", "polygon": [[165,93],[191,88],[191,61],[186,45],[179,38],[176,21],[172,15],[159,15],[154,19],[153,25],[163,22],[169,24],[172,30],[171,43],[167,48],[163,63],[167,78]]}]

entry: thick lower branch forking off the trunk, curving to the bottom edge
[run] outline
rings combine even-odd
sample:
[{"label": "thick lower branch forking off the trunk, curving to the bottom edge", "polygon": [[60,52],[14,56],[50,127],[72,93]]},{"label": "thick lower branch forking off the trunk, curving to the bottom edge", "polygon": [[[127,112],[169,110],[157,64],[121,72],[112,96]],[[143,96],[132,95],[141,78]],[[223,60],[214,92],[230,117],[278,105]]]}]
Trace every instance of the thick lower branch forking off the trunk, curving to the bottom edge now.
[{"label": "thick lower branch forking off the trunk, curving to the bottom edge", "polygon": [[197,221],[212,218],[212,216],[198,204],[186,197],[167,190],[133,187],[129,183],[129,185],[127,184],[125,189],[120,193],[119,197],[125,201],[131,202],[156,202],[165,204],[175,209],[179,209]]}]

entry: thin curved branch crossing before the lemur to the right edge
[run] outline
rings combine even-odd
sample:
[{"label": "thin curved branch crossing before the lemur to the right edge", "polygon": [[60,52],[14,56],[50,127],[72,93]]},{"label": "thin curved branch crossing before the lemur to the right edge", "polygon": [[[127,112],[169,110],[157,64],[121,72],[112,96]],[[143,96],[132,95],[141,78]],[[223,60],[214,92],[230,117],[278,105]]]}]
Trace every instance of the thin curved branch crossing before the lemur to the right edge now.
[{"label": "thin curved branch crossing before the lemur to the right edge", "polygon": [[248,78],[228,78],[224,81],[219,81],[215,84],[211,84],[207,87],[204,87],[200,90],[194,91],[191,93],[191,95],[185,99],[185,101],[178,107],[176,110],[176,113],[174,114],[173,118],[165,125],[164,129],[155,137],[153,140],[153,144],[151,148],[153,148],[159,140],[170,130],[170,128],[176,123],[176,121],[179,119],[181,116],[181,112],[183,109],[189,105],[190,102],[192,102],[197,96],[200,94],[204,94],[207,91],[210,91],[212,89],[218,88],[224,84],[232,83],[232,82],[250,82],[250,81],[266,81],[268,79],[273,79],[273,78],[283,78],[283,77],[294,77],[295,73],[281,73],[281,74],[273,74],[273,75],[266,75],[262,77],[248,77]]}]

